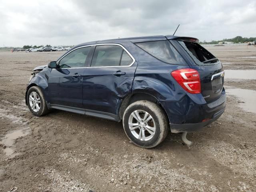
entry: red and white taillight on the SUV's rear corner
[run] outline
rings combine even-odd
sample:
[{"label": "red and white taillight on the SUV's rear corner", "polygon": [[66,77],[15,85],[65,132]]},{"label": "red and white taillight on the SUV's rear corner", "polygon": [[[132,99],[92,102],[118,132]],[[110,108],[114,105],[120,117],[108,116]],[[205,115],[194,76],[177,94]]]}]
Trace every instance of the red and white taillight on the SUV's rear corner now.
[{"label": "red and white taillight on the SUV's rear corner", "polygon": [[185,68],[171,72],[173,78],[189,93],[201,93],[200,76],[197,70]]}]

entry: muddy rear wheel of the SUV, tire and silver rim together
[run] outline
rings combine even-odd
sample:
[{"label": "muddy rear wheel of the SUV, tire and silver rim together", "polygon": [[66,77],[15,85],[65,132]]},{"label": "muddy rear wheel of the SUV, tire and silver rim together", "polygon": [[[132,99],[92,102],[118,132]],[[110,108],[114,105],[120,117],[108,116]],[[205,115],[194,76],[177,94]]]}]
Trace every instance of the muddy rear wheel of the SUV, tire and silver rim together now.
[{"label": "muddy rear wheel of the SUV, tire and silver rim together", "polygon": [[[136,116],[135,111],[138,112],[137,114],[140,119]],[[146,113],[148,113],[146,120],[150,119],[149,121],[142,120]],[[134,125],[129,126],[129,123]],[[148,100],[136,101],[126,108],[123,116],[123,126],[124,132],[130,141],[142,148],[153,148],[157,146],[166,138],[169,130],[168,119],[164,110],[159,105]],[[136,128],[137,126],[140,126],[140,128]],[[130,128],[136,129],[131,131]],[[154,132],[154,134],[151,134],[148,130],[152,133]],[[143,132],[144,137],[142,136]]]}]

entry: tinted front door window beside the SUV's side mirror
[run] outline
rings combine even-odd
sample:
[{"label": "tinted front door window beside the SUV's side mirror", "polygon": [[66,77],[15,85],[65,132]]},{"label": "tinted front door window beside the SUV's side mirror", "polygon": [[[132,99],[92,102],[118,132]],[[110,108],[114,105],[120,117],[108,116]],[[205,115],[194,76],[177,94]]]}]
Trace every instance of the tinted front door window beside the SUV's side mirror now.
[{"label": "tinted front door window beside the SUV's side mirror", "polygon": [[59,68],[84,67],[90,48],[91,47],[83,47],[70,52],[60,60]]}]

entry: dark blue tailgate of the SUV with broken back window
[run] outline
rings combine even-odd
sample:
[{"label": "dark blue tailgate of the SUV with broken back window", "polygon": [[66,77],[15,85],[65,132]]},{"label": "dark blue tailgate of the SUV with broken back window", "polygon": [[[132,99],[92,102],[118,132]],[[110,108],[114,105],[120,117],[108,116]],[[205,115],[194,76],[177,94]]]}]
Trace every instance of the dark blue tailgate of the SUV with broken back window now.
[{"label": "dark blue tailgate of the SUV with broken back window", "polygon": [[[174,41],[172,41],[174,42]],[[224,70],[221,62],[193,39],[178,40],[182,51],[190,60],[190,68],[200,74],[201,93],[207,103],[218,99],[224,84]]]}]

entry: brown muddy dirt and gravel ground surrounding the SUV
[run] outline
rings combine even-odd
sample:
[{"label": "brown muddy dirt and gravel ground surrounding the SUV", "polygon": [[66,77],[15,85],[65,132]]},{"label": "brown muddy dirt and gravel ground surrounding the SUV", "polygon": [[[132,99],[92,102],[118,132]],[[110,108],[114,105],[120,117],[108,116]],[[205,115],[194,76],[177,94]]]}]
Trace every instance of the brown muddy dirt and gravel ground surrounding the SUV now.
[{"label": "brown muddy dirt and gravel ground surrounding the SUV", "polygon": [[[254,46],[207,48],[225,69],[256,69]],[[63,53],[0,52],[0,191],[256,191],[256,114],[235,96],[217,122],[188,134],[190,148],[180,134],[143,149],[121,122],[58,110],[33,116],[24,100],[32,69]],[[256,90],[250,84],[225,82]]]}]

